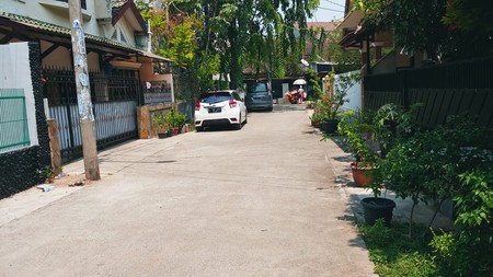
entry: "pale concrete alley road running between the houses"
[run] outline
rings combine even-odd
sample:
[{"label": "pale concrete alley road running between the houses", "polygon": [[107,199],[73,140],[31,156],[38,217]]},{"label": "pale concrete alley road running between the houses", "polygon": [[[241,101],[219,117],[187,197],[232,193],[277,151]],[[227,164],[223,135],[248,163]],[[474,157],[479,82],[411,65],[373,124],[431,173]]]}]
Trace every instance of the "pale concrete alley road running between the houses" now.
[{"label": "pale concrete alley road running between the houses", "polygon": [[0,223],[0,276],[374,276],[341,150],[297,106],[248,120],[101,152],[101,181]]}]

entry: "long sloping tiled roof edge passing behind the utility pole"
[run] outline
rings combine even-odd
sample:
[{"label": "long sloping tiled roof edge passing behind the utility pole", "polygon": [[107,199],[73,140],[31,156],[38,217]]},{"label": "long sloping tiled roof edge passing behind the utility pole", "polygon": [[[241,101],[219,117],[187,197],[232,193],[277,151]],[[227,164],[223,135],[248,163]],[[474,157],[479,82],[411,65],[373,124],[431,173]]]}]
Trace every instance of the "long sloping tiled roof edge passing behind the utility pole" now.
[{"label": "long sloping tiled roof edge passing behind the utility pole", "polygon": [[[36,30],[43,30],[43,31],[47,31],[49,33],[56,33],[56,34],[60,34],[60,35],[68,35],[70,36],[70,28],[69,27],[64,27],[64,26],[59,26],[59,25],[55,25],[51,23],[47,23],[47,22],[43,22],[43,21],[38,21],[38,20],[34,20],[27,16],[22,16],[22,15],[18,15],[18,14],[12,14],[12,13],[7,13],[7,12],[0,12],[0,16],[1,18],[7,18],[12,22],[22,24],[22,25],[26,25]],[[118,48],[124,48],[127,50],[131,50],[131,51],[136,51],[138,49],[130,47],[128,45],[122,44],[119,42],[115,42],[105,37],[101,37],[101,36],[96,36],[96,35],[91,35],[91,34],[85,34],[85,38],[89,41],[93,41],[96,43],[101,43],[101,44],[106,44],[106,45],[111,45],[111,46],[115,46]]]}]

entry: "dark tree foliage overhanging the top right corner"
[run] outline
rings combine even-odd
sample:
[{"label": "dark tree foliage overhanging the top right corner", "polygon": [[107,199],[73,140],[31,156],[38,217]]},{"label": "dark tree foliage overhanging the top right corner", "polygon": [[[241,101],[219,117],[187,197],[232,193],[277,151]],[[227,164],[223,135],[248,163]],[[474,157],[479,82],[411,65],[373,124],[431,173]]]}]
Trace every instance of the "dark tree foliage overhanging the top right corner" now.
[{"label": "dark tree foliage overhanging the top right corner", "polygon": [[391,31],[395,46],[409,56],[425,51],[437,61],[491,53],[492,5],[480,0],[355,0],[367,31]]}]

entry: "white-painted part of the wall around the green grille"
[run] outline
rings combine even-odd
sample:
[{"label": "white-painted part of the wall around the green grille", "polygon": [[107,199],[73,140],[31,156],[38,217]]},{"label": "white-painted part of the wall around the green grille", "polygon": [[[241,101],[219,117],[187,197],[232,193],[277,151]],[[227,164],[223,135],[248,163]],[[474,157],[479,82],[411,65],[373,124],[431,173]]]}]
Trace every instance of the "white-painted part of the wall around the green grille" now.
[{"label": "white-painted part of the wall around the green grille", "polygon": [[[37,146],[36,109],[27,43],[0,45],[0,88],[24,90],[30,140],[32,146]],[[38,81],[41,82],[41,72]]]}]

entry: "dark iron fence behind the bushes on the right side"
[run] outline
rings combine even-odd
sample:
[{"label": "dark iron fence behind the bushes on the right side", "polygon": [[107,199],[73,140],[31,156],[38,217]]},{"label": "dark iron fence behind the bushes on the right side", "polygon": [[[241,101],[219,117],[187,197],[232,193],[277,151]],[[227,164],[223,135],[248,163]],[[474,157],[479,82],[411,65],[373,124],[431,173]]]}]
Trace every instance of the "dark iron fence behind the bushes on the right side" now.
[{"label": "dark iron fence behind the bushes on the right side", "polygon": [[469,114],[478,124],[493,128],[493,57],[367,76],[364,88],[365,108],[422,103],[416,122],[423,126]]}]

